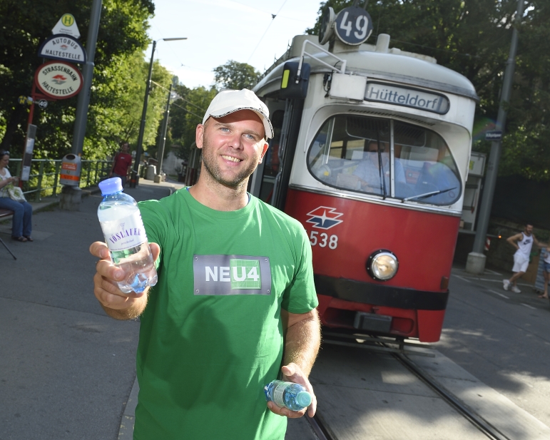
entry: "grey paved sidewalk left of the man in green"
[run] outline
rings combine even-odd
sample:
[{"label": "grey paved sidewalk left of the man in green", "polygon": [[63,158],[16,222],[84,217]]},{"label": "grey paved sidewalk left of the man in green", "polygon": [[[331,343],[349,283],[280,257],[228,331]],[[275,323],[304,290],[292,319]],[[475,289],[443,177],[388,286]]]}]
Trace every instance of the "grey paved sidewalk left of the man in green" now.
[{"label": "grey paved sidewalk left of the man in green", "polygon": [[[159,199],[181,186],[140,180],[125,192]],[[10,240],[11,220],[0,222],[17,257],[0,245],[0,440],[118,439],[139,323],[107,317],[93,297],[100,201],[91,190],[79,211],[31,203],[34,242]]]}]

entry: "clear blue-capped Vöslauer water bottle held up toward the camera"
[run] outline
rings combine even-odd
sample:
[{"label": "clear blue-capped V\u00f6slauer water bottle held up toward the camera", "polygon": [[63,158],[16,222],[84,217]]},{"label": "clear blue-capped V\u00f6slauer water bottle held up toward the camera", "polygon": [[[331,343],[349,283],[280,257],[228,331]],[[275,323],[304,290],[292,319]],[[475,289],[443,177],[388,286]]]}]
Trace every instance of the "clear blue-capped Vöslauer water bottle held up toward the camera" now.
[{"label": "clear blue-capped V\u00f6slauer water bottle held up toward the camera", "polygon": [[103,180],[99,189],[103,195],[98,207],[101,230],[111,260],[126,274],[118,288],[124,293],[143,292],[156,285],[157,271],[138,204],[122,192],[121,178]]}]

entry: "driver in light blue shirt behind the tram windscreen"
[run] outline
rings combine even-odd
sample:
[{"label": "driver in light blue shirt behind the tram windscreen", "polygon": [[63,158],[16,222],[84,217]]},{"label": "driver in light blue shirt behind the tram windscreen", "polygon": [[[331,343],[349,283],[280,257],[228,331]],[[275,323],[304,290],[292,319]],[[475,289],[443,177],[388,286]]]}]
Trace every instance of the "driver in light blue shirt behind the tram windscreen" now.
[{"label": "driver in light blue shirt behind the tram windscreen", "polygon": [[[353,175],[360,180],[361,189],[367,193],[389,195],[389,145],[370,140],[362,160]],[[394,159],[395,185],[406,185],[405,173],[400,160]],[[383,178],[382,178],[383,177]]]}]

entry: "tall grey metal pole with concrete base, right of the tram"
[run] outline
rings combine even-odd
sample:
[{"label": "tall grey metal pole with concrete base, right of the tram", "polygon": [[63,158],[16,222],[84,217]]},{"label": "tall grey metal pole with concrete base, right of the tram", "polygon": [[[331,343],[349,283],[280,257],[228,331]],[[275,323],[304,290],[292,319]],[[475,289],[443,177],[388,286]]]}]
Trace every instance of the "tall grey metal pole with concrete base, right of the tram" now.
[{"label": "tall grey metal pole with concrete base, right of the tram", "polygon": [[[506,125],[506,105],[510,101],[511,85],[514,81],[514,68],[516,63],[516,48],[518,32],[516,24],[521,22],[524,12],[524,0],[518,0],[516,19],[514,20],[514,29],[511,34],[511,44],[508,60],[506,61],[506,70],[504,71],[504,80],[502,83],[502,93],[500,97],[499,113],[496,118],[496,130],[501,130],[504,135],[504,126]],[[489,165],[487,166],[487,178],[483,190],[482,205],[479,208],[479,220],[477,222],[476,237],[474,239],[474,248],[468,255],[466,265],[467,272],[483,273],[485,269],[485,255],[483,254],[487,228],[489,227],[489,218],[491,217],[491,208],[493,205],[494,188],[496,186],[496,175],[499,170],[499,161],[502,150],[502,141],[494,140],[491,144],[491,153],[489,154]]]}]

